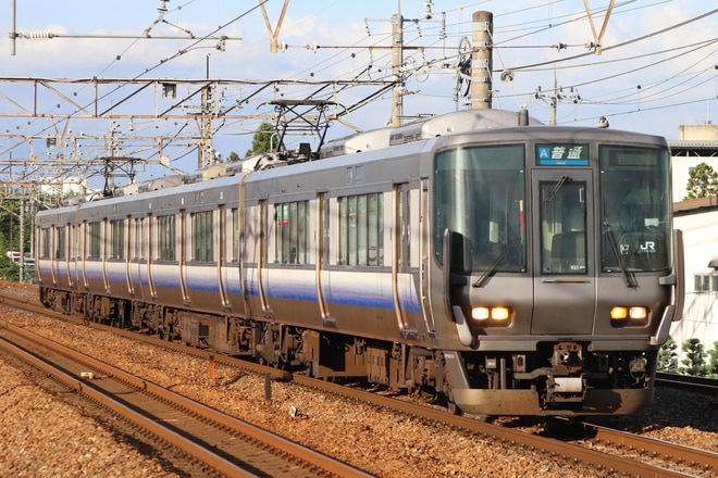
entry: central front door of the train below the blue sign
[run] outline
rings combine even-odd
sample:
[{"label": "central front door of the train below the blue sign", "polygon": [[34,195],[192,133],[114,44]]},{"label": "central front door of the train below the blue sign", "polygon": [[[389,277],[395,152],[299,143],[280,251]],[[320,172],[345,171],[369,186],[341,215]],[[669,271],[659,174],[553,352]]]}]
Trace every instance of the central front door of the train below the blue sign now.
[{"label": "central front door of the train below the blue sign", "polygon": [[589,169],[534,169],[532,334],[593,331],[596,303],[593,177]]}]

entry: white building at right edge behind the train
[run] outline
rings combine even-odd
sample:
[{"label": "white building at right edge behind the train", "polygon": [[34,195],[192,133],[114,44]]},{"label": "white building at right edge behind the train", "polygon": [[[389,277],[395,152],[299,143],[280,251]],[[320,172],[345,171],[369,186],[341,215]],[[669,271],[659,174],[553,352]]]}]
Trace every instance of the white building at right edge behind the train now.
[{"label": "white building at right edge behind the train", "polygon": [[718,125],[685,125],[679,140],[669,141],[673,155],[674,227],[683,231],[685,306],[671,338],[701,340],[704,351],[718,341],[718,197],[683,201],[692,167],[706,163],[718,172]]}]

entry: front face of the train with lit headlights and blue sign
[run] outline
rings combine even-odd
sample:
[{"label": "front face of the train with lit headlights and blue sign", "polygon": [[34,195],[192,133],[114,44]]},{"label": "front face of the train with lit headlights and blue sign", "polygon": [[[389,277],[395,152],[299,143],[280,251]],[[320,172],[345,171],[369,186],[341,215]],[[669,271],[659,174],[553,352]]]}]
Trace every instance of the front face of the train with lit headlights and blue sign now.
[{"label": "front face of the train with lit headlights and blue sign", "polygon": [[450,405],[562,416],[649,405],[682,309],[666,141],[531,126],[434,148],[431,301]]}]

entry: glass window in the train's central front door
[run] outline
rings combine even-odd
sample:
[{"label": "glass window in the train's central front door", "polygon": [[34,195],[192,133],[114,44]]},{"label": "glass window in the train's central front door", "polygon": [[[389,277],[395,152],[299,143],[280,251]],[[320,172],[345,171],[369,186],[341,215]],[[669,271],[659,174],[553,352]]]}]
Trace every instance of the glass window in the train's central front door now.
[{"label": "glass window in the train's central front door", "polygon": [[541,241],[544,274],[586,274],[585,183],[541,183]]}]

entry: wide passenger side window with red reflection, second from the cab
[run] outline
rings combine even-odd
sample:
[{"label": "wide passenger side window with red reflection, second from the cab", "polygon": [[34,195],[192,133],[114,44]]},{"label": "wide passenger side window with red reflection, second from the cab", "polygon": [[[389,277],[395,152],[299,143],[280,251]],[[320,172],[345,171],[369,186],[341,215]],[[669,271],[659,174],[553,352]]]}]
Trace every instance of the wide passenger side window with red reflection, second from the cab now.
[{"label": "wide passenger side window with red reflection, second from the cab", "polygon": [[274,261],[308,264],[309,201],[274,205]]}]

